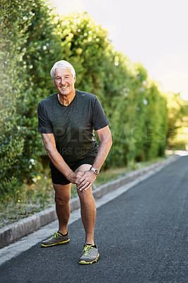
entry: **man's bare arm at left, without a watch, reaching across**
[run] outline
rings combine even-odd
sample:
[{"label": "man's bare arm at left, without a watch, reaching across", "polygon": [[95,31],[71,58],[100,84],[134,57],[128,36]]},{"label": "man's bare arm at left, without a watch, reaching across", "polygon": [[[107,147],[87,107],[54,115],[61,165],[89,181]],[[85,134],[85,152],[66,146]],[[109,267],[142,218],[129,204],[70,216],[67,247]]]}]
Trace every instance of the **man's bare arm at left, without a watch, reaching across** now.
[{"label": "man's bare arm at left, without a watch, reaching across", "polygon": [[61,154],[57,151],[56,142],[54,139],[54,134],[42,134],[42,140],[47,151],[47,155],[51,159],[54,166],[68,179],[71,183],[77,184],[78,179],[81,178],[83,173],[74,171],[69,168],[69,166],[62,158]]}]

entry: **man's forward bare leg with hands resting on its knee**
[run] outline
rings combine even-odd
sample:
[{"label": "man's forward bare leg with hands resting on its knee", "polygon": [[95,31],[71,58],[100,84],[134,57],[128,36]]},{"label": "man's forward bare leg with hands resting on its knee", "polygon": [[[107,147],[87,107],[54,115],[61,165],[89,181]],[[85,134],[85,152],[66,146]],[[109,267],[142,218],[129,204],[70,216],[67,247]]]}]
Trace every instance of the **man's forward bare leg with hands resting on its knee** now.
[{"label": "man's forward bare leg with hands resting on its knee", "polygon": [[[90,169],[90,164],[81,165],[76,171],[84,172]],[[79,191],[78,196],[81,201],[81,218],[86,232],[85,243],[94,243],[94,229],[96,218],[95,200],[92,195],[91,187],[87,191]]]}]

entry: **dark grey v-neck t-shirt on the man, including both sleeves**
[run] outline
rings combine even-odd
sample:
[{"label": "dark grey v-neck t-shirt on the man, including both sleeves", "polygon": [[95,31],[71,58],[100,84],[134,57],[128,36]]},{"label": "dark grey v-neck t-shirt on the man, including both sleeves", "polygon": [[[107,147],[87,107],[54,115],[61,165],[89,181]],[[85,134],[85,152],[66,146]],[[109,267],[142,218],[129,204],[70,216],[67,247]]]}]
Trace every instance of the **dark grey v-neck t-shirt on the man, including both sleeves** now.
[{"label": "dark grey v-neck t-shirt on the man, including both sleeves", "polygon": [[98,143],[93,129],[109,125],[100,101],[93,93],[76,90],[68,106],[61,105],[57,93],[38,105],[38,132],[54,134],[57,150],[68,164],[95,155]]}]

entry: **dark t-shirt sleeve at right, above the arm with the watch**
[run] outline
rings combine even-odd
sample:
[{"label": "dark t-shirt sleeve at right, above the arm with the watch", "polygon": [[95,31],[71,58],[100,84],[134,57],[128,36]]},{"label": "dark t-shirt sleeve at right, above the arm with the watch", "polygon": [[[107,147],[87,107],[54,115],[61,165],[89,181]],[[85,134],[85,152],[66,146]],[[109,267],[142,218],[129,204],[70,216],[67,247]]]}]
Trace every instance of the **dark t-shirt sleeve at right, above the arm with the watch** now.
[{"label": "dark t-shirt sleeve at right, above the arm with the watch", "polygon": [[110,124],[97,97],[95,99],[95,104],[93,105],[92,123],[95,131],[98,129],[102,129]]}]

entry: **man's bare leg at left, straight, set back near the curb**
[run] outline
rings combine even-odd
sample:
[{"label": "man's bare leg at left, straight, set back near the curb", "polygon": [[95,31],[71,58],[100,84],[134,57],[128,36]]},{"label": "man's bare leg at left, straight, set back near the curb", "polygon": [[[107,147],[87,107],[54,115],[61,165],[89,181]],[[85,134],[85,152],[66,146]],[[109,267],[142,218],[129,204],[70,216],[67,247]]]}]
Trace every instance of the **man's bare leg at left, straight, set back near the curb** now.
[{"label": "man's bare leg at left, straight, set back near the curb", "polygon": [[71,184],[54,185],[57,218],[59,220],[59,232],[66,234],[70,216],[69,200],[71,198]]}]

